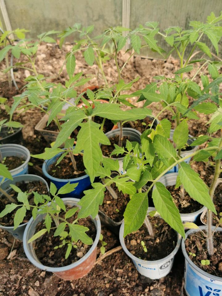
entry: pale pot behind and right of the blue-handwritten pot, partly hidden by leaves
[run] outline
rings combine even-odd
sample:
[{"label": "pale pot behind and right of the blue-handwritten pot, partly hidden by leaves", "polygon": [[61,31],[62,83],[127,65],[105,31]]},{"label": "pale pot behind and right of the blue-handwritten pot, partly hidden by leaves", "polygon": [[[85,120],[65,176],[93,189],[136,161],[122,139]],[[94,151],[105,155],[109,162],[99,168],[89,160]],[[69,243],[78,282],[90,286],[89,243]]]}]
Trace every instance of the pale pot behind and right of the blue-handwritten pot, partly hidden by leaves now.
[{"label": "pale pot behind and right of the blue-handwritten pot, partly hidden by leaves", "polygon": [[[164,186],[172,186],[176,184],[178,173],[170,173],[163,175],[158,182],[162,183]],[[155,189],[155,185],[153,187],[153,190]],[[182,222],[190,221],[190,222],[196,222],[200,214],[206,209],[206,207],[202,207],[196,212],[188,213],[188,214],[180,214]]]}]

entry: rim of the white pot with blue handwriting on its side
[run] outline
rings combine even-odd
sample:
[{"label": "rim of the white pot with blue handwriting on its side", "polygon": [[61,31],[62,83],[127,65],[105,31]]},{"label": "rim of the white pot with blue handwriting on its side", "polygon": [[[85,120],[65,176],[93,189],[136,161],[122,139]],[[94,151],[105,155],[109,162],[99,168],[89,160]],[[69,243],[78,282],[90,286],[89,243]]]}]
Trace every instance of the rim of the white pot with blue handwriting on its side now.
[{"label": "rim of the white pot with blue handwriting on its side", "polygon": [[[146,214],[148,214],[151,211],[155,211],[155,210],[156,209],[154,207],[149,207],[148,210],[147,210],[147,212],[146,212]],[[159,263],[162,263],[163,261],[167,261],[171,257],[175,256],[175,254],[179,250],[180,243],[181,243],[181,235],[177,232],[177,244],[176,244],[175,248],[173,249],[173,251],[169,255],[167,255],[166,257],[163,257],[162,259],[158,259],[158,260],[152,260],[152,261],[151,260],[143,260],[143,259],[139,259],[138,257],[134,256],[126,248],[124,237],[123,237],[123,232],[124,232],[124,219],[123,219],[123,222],[121,224],[120,232],[119,232],[119,239],[120,239],[121,246],[122,246],[124,252],[126,253],[126,255],[129,256],[132,260],[138,261],[139,263],[146,264],[146,265],[147,264],[150,264],[150,265],[159,264]]]}]

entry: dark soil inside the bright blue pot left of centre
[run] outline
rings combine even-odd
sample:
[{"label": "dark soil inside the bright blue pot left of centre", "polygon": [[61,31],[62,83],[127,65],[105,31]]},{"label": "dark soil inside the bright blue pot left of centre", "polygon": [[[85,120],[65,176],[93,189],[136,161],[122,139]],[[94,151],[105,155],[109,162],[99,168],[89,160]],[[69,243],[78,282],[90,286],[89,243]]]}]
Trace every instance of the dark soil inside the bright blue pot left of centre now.
[{"label": "dark soil inside the bright blue pot left of centre", "polygon": [[71,158],[66,156],[63,160],[56,166],[56,162],[59,157],[56,159],[56,162],[49,166],[48,173],[52,177],[59,178],[59,179],[73,179],[78,178],[81,176],[86,175],[85,167],[83,164],[83,157],[82,155],[74,155],[76,161],[76,167],[78,171],[75,171],[72,166]]}]

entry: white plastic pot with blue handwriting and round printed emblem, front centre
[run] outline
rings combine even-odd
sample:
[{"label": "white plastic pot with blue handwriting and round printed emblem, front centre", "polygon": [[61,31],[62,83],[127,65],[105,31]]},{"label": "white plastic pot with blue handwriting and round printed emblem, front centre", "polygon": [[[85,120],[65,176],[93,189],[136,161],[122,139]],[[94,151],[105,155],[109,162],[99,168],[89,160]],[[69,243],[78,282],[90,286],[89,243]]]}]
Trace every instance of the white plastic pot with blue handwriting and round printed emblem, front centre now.
[{"label": "white plastic pot with blue handwriting and round printed emblem, front centre", "polygon": [[[151,208],[151,207],[148,208],[147,214],[154,210],[155,208]],[[136,269],[140,274],[144,275],[147,278],[159,279],[159,278],[165,277],[171,271],[174,257],[180,248],[181,236],[179,234],[177,234],[177,244],[175,246],[175,249],[167,257],[164,257],[159,260],[148,261],[148,260],[139,259],[130,253],[130,251],[126,248],[123,233],[124,233],[124,220],[121,224],[120,232],[119,232],[120,243],[124,252],[126,253],[127,256],[130,257],[130,259],[132,259]]]}]

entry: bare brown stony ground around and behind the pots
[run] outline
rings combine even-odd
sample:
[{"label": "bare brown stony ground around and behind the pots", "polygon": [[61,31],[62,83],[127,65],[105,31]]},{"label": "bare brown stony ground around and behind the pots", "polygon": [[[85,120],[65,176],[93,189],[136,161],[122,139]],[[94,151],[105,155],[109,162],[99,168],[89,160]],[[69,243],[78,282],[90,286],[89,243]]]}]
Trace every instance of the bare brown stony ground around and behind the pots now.
[{"label": "bare brown stony ground around and behind the pots", "polygon": [[[67,73],[65,68],[59,72],[66,53],[71,49],[72,45],[65,44],[62,50],[57,45],[41,44],[36,59],[37,71],[44,74],[47,77],[47,81],[60,82],[64,84],[64,80],[67,79]],[[120,66],[128,59],[128,53],[125,55],[119,55]],[[3,74],[5,64],[2,62],[0,65],[0,97],[7,97],[9,102],[12,103],[12,97],[21,93],[16,91],[15,88],[10,91],[6,81],[6,76]],[[175,60],[171,56],[167,61],[162,60],[149,60],[141,57],[134,57],[127,64],[122,72],[125,82],[133,80],[135,77],[141,78],[134,83],[132,91],[142,89],[146,84],[153,81],[155,75],[166,75],[172,77],[173,73],[180,68],[178,60]],[[92,77],[92,80],[88,85],[97,84],[102,85],[101,76],[97,81],[97,66],[93,65],[89,67],[81,54],[76,55],[76,70],[75,73],[83,71],[86,76]],[[108,61],[104,65],[105,75],[108,83],[113,81],[117,82],[117,72],[115,70],[114,61]],[[207,68],[203,71],[207,73]],[[193,71],[190,74],[184,74],[185,76],[193,76]],[[18,70],[14,72],[15,80],[18,83],[19,89],[25,84],[24,79],[29,76],[27,71]],[[200,82],[199,74],[195,77],[197,83]],[[77,92],[80,93],[83,87],[77,88]],[[137,98],[130,98],[131,103],[136,104],[138,107],[142,107],[142,102],[136,103]],[[159,103],[152,103],[149,108],[153,110],[153,114],[156,115],[160,110]],[[21,111],[19,111],[20,113]],[[169,117],[169,111],[165,111],[160,116],[162,118],[171,119]],[[43,117],[43,114],[38,109],[30,109],[26,113],[19,115],[19,121],[21,121],[25,127],[23,128],[24,145],[31,150],[31,153],[42,153],[47,143],[41,137],[41,135],[35,132],[34,127]],[[206,132],[208,115],[200,115],[201,121],[195,123],[194,120],[189,120],[190,134],[193,136],[200,135]],[[29,172],[41,175],[42,161],[39,159],[31,158],[34,166],[30,167]],[[195,164],[194,164],[195,166]],[[210,173],[211,175],[211,173]],[[102,228],[102,234],[104,235],[104,241],[108,243],[106,249],[113,249],[119,245],[117,237],[112,234],[106,228]],[[57,278],[52,273],[44,272],[35,268],[26,258],[22,243],[15,241],[11,256],[8,256],[13,244],[13,237],[7,232],[0,229],[0,296],[6,295],[18,295],[18,296],[180,296],[183,278],[183,265],[184,260],[182,254],[179,252],[175,260],[174,267],[171,273],[165,278],[160,280],[150,280],[141,276],[135,269],[132,261],[120,250],[113,253],[109,257],[106,257],[100,263],[95,265],[88,276],[76,281],[64,281]],[[98,245],[98,254],[99,247]]]}]

